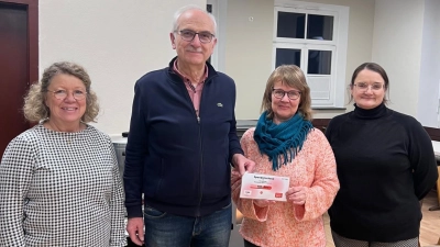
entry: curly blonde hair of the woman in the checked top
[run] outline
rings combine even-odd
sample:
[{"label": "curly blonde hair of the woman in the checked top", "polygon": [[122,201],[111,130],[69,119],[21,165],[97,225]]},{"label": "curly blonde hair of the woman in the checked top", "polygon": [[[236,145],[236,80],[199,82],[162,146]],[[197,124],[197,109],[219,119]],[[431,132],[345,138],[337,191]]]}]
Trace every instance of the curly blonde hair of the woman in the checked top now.
[{"label": "curly blonde hair of the woman in the checked top", "polygon": [[82,81],[86,86],[86,112],[81,116],[84,123],[96,122],[99,113],[98,97],[90,89],[91,80],[87,71],[77,64],[58,61],[51,65],[43,72],[41,81],[33,83],[24,97],[23,113],[30,122],[40,122],[51,116],[51,110],[45,104],[47,88],[56,75],[70,75]]}]

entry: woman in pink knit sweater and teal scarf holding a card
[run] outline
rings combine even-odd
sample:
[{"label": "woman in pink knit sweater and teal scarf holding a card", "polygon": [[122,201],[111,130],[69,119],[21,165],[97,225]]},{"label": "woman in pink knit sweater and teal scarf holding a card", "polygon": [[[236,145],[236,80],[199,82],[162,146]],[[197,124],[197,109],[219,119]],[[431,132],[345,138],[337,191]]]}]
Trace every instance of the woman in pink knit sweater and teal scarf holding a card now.
[{"label": "woman in pink knit sweater and teal scarf holding a card", "polygon": [[310,89],[300,68],[279,66],[267,80],[255,128],[241,145],[254,173],[289,177],[286,202],[241,199],[232,172],[232,197],[244,220],[245,247],[324,247],[322,214],[339,190],[336,161],[324,135],[311,125]]}]

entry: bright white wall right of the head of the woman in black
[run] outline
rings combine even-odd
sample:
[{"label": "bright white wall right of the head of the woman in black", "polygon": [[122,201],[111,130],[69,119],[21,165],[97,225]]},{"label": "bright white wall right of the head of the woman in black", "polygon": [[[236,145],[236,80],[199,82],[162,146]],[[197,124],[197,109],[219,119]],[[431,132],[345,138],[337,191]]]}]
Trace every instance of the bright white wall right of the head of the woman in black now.
[{"label": "bright white wall right of the head of the woman in black", "polygon": [[388,106],[413,116],[419,98],[424,5],[424,0],[376,0],[374,15],[372,60],[388,74]]}]

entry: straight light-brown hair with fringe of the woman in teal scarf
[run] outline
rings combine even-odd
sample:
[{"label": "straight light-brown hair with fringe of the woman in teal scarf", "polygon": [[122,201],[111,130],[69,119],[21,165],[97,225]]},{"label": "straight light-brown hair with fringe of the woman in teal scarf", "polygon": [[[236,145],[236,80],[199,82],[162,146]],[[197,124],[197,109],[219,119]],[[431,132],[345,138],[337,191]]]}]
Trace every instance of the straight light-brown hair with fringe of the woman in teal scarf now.
[{"label": "straight light-brown hair with fringe of the woman in teal scarf", "polygon": [[282,65],[277,67],[268,77],[261,106],[262,112],[267,111],[267,119],[274,119],[274,112],[272,111],[272,91],[275,82],[277,81],[282,81],[284,85],[296,88],[301,92],[298,112],[302,114],[305,120],[311,121],[312,111],[310,88],[307,85],[306,76],[304,75],[302,70],[296,65]]}]

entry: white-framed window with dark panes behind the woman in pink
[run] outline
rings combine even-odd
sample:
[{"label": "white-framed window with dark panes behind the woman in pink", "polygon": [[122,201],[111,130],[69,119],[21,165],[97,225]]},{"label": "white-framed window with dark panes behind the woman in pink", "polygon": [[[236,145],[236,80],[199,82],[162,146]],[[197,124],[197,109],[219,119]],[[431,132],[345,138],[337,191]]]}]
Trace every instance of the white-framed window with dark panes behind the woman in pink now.
[{"label": "white-framed window with dark panes behind the woman in pink", "polygon": [[314,108],[343,108],[349,8],[275,0],[273,66],[306,74]]}]

